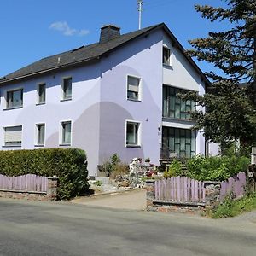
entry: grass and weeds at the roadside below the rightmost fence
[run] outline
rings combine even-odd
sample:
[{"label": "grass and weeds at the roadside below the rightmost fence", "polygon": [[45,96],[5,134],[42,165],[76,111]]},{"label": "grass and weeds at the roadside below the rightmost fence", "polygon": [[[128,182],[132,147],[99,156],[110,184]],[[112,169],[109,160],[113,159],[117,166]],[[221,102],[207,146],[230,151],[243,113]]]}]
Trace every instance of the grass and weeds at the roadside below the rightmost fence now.
[{"label": "grass and weeds at the roadside below the rightmost fence", "polygon": [[232,198],[232,195],[228,195],[209,215],[211,218],[227,218],[253,209],[256,209],[256,193],[245,195],[236,200]]}]

